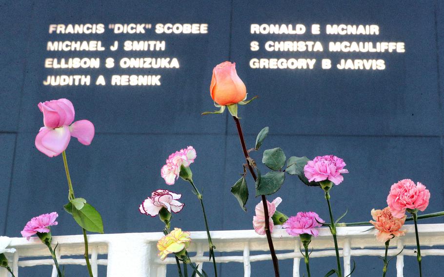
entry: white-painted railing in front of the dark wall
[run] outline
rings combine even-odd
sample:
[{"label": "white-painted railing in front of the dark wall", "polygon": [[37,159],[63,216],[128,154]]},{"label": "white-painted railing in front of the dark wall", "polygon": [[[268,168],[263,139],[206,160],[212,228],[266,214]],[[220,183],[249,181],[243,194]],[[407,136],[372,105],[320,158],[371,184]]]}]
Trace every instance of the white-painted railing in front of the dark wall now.
[{"label": "white-painted railing in front of the dark wall", "polygon": [[[350,273],[350,258],[356,256],[383,256],[384,245],[378,242],[374,236],[374,230],[363,227],[338,227],[338,242],[340,255],[343,257],[344,275]],[[444,245],[444,224],[421,224],[419,225],[421,245],[438,246]],[[416,256],[416,240],[413,225],[405,225],[407,234],[404,237],[392,239],[393,247],[388,251],[389,256],[396,255],[397,277],[403,277],[404,256]],[[161,261],[157,257],[156,243],[162,236],[161,233],[128,233],[110,235],[89,235],[89,250],[91,254],[91,265],[94,276],[97,276],[98,265],[105,265],[107,277],[165,277],[166,265],[174,264],[176,260],[172,255]],[[211,232],[217,251],[224,253],[222,257],[216,257],[218,263],[239,262],[243,263],[244,277],[250,276],[251,266],[254,262],[270,260],[269,254],[250,255],[250,251],[266,251],[268,244],[265,236],[257,235],[253,230],[242,231],[214,231]],[[205,232],[192,232],[192,243],[189,252],[193,253],[191,259],[199,264],[208,263],[205,255],[207,249],[207,238]],[[298,237],[288,236],[284,230],[273,232],[273,242],[277,250],[288,250],[288,253],[278,254],[279,259],[293,259],[293,277],[300,277],[300,267],[304,268],[303,256],[300,253],[302,246]],[[70,258],[70,256],[83,255],[82,236],[53,237],[54,246],[59,243],[56,250],[61,265],[76,264],[85,265],[82,257]],[[17,252],[8,256],[10,265],[16,277],[20,276],[20,267],[53,265],[53,260],[48,255],[48,249],[39,238],[34,237],[30,241],[25,238],[13,238],[10,247]],[[310,247],[314,248],[310,258],[335,256],[333,240],[327,228],[321,228],[319,237],[313,238]],[[371,249],[372,248],[372,249]],[[375,249],[377,248],[377,249]],[[444,249],[422,249],[422,256],[444,256]],[[106,258],[98,258],[98,255],[107,255]],[[29,257],[40,257],[40,259],[29,259]],[[41,259],[41,257],[44,257]],[[21,260],[27,258],[26,260]],[[301,264],[302,260],[302,264]],[[104,270],[104,269],[103,269]],[[8,277],[6,270],[0,268],[0,277]],[[53,268],[52,277],[57,277]]]}]

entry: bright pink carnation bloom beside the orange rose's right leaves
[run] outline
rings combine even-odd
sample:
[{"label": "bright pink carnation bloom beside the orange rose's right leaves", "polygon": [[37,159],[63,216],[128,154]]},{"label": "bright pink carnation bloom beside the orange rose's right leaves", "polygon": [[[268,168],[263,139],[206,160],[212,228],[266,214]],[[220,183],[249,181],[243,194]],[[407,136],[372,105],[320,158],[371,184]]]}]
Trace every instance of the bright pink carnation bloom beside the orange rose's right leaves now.
[{"label": "bright pink carnation bloom beside the orange rose's right leaves", "polygon": [[335,185],[339,185],[344,180],[342,174],[348,173],[344,166],[345,162],[342,158],[333,155],[318,156],[308,161],[303,168],[303,172],[310,182],[320,182],[328,179]]}]

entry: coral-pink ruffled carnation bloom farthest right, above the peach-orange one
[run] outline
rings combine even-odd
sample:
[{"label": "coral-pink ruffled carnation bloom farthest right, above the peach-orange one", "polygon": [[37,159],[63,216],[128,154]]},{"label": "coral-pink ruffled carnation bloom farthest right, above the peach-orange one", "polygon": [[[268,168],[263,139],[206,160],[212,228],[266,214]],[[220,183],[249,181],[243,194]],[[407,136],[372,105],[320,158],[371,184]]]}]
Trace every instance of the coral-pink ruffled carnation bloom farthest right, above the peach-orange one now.
[{"label": "coral-pink ruffled carnation bloom farthest right, above the peach-orange one", "polygon": [[403,218],[406,209],[418,209],[423,212],[428,206],[430,192],[425,186],[410,179],[404,179],[390,188],[387,204],[395,218]]}]

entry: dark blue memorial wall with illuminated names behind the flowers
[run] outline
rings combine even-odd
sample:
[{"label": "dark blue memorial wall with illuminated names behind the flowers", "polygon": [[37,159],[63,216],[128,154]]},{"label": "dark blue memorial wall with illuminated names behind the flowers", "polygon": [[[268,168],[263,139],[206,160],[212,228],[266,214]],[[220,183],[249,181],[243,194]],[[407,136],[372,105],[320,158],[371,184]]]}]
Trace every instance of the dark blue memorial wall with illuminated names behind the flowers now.
[{"label": "dark blue memorial wall with illuminated names behind the flowers", "polygon": [[[73,102],[77,120],[89,119],[96,127],[92,144],[72,139],[67,156],[76,195],[101,212],[106,233],[161,231],[160,220],[138,211],[158,188],[183,194],[186,207],[174,216],[174,225],[203,230],[195,221],[201,211],[190,187],[180,181],[167,187],[160,176],[168,155],[188,145],[198,153],[193,173],[203,187],[211,229],[251,229],[259,202],[252,197],[253,181],[247,180],[247,213],[230,194],[243,162],[233,120],[226,113],[200,115],[214,109],[212,69],[224,60],[236,62],[248,96],[260,97],[240,107],[249,146],[269,126],[263,149],[282,147],[287,157],[344,159],[350,173],[332,191],[336,213],[348,208],[344,220],[370,219],[372,208],[385,207],[390,185],[403,178],[430,190],[428,212],[444,210],[442,1],[0,4],[1,235],[18,237],[29,218],[52,211],[60,215],[53,235],[79,234],[62,210],[67,200],[62,158],[48,158],[34,146],[43,125],[37,103],[59,98]],[[96,33],[72,34],[70,24],[95,24]],[[357,30],[365,34],[341,34],[347,32],[341,24],[363,25]],[[90,49],[58,51],[55,41],[86,41]],[[139,46],[131,41],[147,41],[140,45],[146,49],[125,50],[125,41],[129,48]],[[376,50],[356,52],[352,42],[371,42],[364,47]],[[261,154],[254,158],[260,161]],[[275,196],[283,198],[279,210],[287,215],[313,210],[328,217],[322,191],[297,178],[287,178]],[[404,273],[416,269],[414,257],[405,260]],[[376,257],[355,261],[354,276],[380,274]],[[334,260],[313,259],[314,276],[325,274],[327,263]],[[435,276],[442,259],[425,257],[423,264],[424,275]],[[49,270],[22,272],[44,276]],[[81,268],[66,270],[81,276]],[[242,264],[222,265],[220,271],[241,276]],[[281,271],[291,275],[291,260],[281,261]],[[252,276],[271,273],[271,262],[252,265]]]}]

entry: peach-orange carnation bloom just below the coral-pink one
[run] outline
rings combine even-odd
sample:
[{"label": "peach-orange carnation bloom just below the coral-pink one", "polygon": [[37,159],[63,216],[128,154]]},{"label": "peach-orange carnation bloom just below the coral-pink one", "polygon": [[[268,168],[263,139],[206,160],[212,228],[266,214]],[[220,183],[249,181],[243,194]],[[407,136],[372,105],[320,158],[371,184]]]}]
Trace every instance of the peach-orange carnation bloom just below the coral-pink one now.
[{"label": "peach-orange carnation bloom just below the coral-pink one", "polygon": [[371,215],[373,220],[370,223],[375,226],[378,232],[375,234],[376,239],[381,242],[385,242],[393,237],[399,237],[405,235],[405,230],[399,230],[403,227],[405,218],[395,218],[393,217],[390,207],[386,207],[383,210],[371,210]]}]

